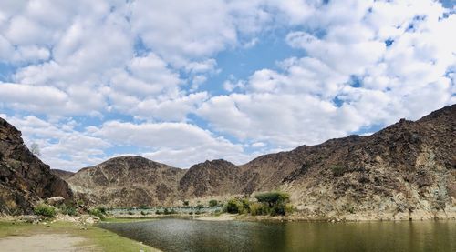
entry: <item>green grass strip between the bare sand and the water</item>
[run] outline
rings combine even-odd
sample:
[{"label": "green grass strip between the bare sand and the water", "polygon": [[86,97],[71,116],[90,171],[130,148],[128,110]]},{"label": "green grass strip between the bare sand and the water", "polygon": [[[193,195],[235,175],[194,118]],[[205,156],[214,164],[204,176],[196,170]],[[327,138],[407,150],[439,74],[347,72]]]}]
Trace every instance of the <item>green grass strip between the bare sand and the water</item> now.
[{"label": "green grass strip between the bare sand and the water", "polygon": [[69,222],[55,222],[48,225],[13,223],[0,221],[0,238],[9,236],[32,236],[36,234],[70,234],[75,237],[84,237],[86,241],[81,247],[94,247],[96,251],[160,251],[153,247],[145,246],[137,241],[110,232],[108,230],[87,226],[81,228]]}]

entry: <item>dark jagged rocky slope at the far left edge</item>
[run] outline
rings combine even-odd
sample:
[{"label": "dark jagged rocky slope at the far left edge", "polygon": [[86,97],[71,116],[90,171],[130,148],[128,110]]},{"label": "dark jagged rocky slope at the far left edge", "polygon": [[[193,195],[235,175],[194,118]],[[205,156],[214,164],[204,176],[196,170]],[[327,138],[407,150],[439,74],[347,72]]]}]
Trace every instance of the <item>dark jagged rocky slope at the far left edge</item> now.
[{"label": "dark jagged rocky slope at the far left edge", "polygon": [[24,145],[21,132],[0,118],[0,214],[29,214],[39,199],[72,197],[67,183],[50,173]]}]

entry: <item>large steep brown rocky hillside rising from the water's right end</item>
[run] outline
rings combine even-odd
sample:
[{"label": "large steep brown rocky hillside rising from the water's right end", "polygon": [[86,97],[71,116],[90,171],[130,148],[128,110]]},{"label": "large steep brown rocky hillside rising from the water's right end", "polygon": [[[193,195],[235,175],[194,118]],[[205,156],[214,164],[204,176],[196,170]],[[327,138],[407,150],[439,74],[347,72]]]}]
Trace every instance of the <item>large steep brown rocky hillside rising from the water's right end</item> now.
[{"label": "large steep brown rocky hillside rising from the water's right end", "polygon": [[292,153],[281,187],[306,215],[456,217],[456,106]]}]

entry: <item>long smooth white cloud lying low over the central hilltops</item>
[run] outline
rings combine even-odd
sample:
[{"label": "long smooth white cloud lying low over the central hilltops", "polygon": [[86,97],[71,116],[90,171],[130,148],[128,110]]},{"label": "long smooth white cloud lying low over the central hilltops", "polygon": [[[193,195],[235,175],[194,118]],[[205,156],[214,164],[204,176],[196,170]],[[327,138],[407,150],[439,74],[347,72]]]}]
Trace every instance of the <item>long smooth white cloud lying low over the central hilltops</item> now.
[{"label": "long smooth white cloud lying low over the central hilltops", "polygon": [[113,145],[140,146],[154,160],[172,166],[190,167],[213,158],[226,158],[236,163],[247,160],[241,145],[186,123],[124,123],[109,121],[92,127],[91,135],[102,137]]}]

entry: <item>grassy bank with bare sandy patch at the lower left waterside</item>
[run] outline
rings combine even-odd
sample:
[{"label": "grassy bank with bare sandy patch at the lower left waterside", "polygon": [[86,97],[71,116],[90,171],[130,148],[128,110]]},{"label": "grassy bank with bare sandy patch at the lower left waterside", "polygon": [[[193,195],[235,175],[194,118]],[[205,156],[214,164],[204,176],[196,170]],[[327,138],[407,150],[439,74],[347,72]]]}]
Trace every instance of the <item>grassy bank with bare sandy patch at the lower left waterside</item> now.
[{"label": "grassy bank with bare sandy patch at the lower left waterside", "polygon": [[0,217],[0,247],[7,251],[161,251],[92,224],[32,224],[12,217]]}]

